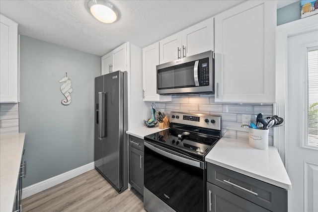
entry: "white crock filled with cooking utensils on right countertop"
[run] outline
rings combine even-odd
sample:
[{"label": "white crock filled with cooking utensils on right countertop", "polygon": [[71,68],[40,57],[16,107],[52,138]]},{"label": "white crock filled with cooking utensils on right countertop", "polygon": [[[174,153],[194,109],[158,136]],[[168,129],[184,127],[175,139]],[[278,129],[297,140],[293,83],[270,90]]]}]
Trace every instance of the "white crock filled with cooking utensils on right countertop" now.
[{"label": "white crock filled with cooking utensils on right countertop", "polygon": [[259,113],[256,118],[256,124],[250,122],[249,125],[242,125],[242,128],[248,128],[248,144],[253,148],[268,149],[269,128],[284,126],[281,125],[284,119],[278,116],[263,118]]}]

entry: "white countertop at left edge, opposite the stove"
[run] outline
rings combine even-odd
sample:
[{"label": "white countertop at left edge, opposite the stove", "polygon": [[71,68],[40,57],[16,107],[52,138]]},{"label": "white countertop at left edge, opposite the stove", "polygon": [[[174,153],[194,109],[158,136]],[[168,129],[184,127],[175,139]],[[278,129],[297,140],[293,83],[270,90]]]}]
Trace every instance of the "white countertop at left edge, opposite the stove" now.
[{"label": "white countertop at left edge, opposite the stove", "polygon": [[0,212],[11,212],[21,165],[25,133],[0,137]]}]

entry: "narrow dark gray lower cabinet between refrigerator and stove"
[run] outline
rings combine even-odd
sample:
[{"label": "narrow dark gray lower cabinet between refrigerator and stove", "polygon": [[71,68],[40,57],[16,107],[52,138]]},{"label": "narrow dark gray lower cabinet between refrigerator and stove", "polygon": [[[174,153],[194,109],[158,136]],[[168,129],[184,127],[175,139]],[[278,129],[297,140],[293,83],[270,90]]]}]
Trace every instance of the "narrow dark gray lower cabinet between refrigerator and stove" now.
[{"label": "narrow dark gray lower cabinet between refrigerator and stove", "polygon": [[144,141],[129,136],[129,184],[144,195]]}]

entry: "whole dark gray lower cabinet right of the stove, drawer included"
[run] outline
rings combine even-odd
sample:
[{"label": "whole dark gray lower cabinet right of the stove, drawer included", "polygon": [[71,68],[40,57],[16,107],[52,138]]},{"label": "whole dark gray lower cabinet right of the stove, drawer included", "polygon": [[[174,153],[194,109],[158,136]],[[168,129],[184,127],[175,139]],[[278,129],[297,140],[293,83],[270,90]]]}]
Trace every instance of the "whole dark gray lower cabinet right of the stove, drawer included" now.
[{"label": "whole dark gray lower cabinet right of the stove, drawer included", "polygon": [[207,163],[208,212],[287,212],[287,190]]}]

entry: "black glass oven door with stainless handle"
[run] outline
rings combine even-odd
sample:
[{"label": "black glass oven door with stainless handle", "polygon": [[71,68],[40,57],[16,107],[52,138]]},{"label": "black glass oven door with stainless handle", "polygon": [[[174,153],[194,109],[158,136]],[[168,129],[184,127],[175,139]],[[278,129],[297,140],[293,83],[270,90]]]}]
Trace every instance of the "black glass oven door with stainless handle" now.
[{"label": "black glass oven door with stainless handle", "polygon": [[205,212],[204,162],[145,141],[145,187],[173,210]]}]

